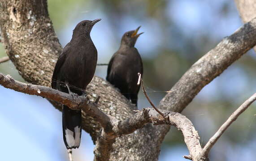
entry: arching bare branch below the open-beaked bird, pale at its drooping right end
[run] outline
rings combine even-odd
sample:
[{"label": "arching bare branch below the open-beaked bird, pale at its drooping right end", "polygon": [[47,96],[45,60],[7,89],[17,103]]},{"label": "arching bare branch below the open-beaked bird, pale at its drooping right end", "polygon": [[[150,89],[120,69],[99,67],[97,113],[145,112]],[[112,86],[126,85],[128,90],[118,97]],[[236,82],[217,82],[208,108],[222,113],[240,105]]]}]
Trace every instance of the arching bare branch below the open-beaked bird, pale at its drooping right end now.
[{"label": "arching bare branch below the open-beaked bird, pale at its drooping right end", "polygon": [[[119,121],[115,118],[110,120],[110,125],[101,131],[101,136],[95,146],[95,161],[105,161],[106,155],[108,155],[108,150],[111,150],[111,143],[115,138],[122,135],[130,134],[137,129],[143,128],[147,123],[153,123],[154,125],[173,125],[182,131],[184,136],[184,141],[187,144],[187,148],[190,152],[192,158],[197,157],[202,148],[200,146],[200,137],[198,136],[197,131],[195,130],[193,124],[186,116],[168,111],[161,110],[167,119],[162,117],[156,110],[152,108],[145,108],[142,111],[139,111],[129,119],[124,121]],[[103,142],[103,143],[100,143]],[[100,146],[107,145],[108,146]],[[105,154],[105,156],[103,155]]]}]

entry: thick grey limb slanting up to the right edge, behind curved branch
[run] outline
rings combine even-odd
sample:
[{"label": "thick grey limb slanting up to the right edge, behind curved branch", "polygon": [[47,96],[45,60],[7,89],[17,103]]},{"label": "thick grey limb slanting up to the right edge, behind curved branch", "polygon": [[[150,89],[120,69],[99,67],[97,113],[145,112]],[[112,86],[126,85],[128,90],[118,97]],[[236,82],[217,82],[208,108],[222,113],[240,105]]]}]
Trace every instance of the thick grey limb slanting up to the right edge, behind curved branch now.
[{"label": "thick grey limb slanting up to the right edge, behind curved branch", "polygon": [[256,18],[200,58],[170,89],[159,108],[181,112],[200,90],[256,45]]}]

